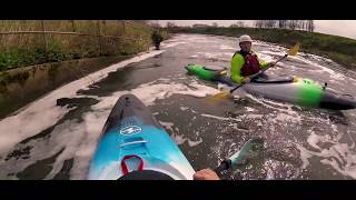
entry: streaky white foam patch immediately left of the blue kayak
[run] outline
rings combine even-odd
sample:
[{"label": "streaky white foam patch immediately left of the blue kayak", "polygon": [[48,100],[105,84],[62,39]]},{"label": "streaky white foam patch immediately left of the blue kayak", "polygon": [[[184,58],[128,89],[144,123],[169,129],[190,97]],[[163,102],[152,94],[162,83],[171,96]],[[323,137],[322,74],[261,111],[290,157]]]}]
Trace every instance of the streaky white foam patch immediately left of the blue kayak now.
[{"label": "streaky white foam patch immediately left of the blue kayak", "polygon": [[[44,179],[55,178],[55,176],[61,170],[65,160],[72,158],[75,158],[75,161],[73,168],[71,170],[79,170],[80,176],[77,177],[79,179],[85,179],[86,177],[83,170],[87,170],[89,159],[96,148],[97,138],[99,137],[99,133],[102,129],[101,123],[103,124],[103,122],[100,122],[100,120],[96,119],[95,121],[91,121],[90,129],[86,129],[88,124],[77,123],[77,120],[65,121],[63,123],[55,128],[55,130],[51,132],[50,138],[39,139],[44,140],[43,142],[36,142],[32,140],[27,143],[28,146],[32,147],[32,149],[30,150],[31,156],[28,159],[10,159],[4,164],[2,164],[2,168],[7,168],[8,166],[10,167],[10,169],[7,170],[7,173],[17,173],[18,171],[24,170],[24,168],[27,168],[28,166],[36,163],[38,160],[47,159],[65,148],[65,150],[56,158],[56,161],[52,164],[53,169],[49,172],[49,174],[47,174]],[[91,141],[91,143],[88,143],[88,141]],[[82,148],[82,146],[85,146],[86,148],[90,148],[90,150],[86,151],[87,149]],[[78,157],[81,157],[81,159],[78,159]],[[86,159],[86,162],[82,164],[79,163],[78,167],[78,161],[83,161],[83,158]],[[21,162],[21,164],[17,164],[17,162]],[[4,174],[1,174],[0,177],[3,176]],[[73,176],[73,178],[76,178],[76,176]]]}]

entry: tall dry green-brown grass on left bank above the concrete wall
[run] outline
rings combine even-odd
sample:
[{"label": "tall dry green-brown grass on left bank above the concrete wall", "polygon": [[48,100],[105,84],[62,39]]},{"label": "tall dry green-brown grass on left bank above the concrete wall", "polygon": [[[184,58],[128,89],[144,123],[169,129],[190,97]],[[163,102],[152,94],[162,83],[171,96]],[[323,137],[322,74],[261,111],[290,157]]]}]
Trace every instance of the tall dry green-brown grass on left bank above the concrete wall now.
[{"label": "tall dry green-brown grass on left bank above the concrete wall", "polygon": [[[98,33],[97,20],[52,20],[44,21],[47,31]],[[0,20],[0,32],[41,31],[40,20]],[[147,50],[151,46],[152,27],[130,21],[100,21],[101,38],[91,36],[52,34],[0,34],[0,71],[46,62],[109,56],[130,56]],[[164,33],[165,39],[169,36]],[[100,48],[100,44],[101,48]]]}]

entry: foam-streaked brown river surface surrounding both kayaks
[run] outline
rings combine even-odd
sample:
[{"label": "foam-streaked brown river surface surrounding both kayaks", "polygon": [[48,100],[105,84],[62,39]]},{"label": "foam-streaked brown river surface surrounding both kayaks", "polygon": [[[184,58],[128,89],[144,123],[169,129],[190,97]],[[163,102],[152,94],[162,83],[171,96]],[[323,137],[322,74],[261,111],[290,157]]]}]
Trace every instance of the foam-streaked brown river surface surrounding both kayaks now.
[{"label": "foam-streaked brown river surface surrounding both kayaks", "polygon": [[[254,41],[259,58],[284,56],[284,47]],[[356,179],[356,110],[330,111],[244,94],[207,101],[218,86],[188,76],[188,63],[229,68],[237,39],[176,34],[161,50],[109,66],[0,120],[0,179],[86,179],[107,117],[123,93],[134,93],[190,161],[215,168],[250,138],[264,149],[226,178]],[[266,73],[313,79],[356,96],[356,73],[329,59],[299,52]]]}]

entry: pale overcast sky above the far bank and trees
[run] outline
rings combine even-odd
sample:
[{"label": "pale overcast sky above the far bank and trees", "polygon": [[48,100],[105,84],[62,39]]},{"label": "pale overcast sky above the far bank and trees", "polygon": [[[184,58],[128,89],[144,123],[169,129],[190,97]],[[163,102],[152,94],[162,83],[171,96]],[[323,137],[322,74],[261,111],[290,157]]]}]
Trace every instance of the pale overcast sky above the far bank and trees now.
[{"label": "pale overcast sky above the far bank and trees", "polygon": [[[228,27],[237,21],[244,21],[246,26],[253,26],[255,20],[158,20],[161,26],[168,21],[177,26],[192,26],[195,23],[211,24],[217,22],[219,26]],[[314,20],[315,32],[336,34],[356,39],[356,20]]]}]

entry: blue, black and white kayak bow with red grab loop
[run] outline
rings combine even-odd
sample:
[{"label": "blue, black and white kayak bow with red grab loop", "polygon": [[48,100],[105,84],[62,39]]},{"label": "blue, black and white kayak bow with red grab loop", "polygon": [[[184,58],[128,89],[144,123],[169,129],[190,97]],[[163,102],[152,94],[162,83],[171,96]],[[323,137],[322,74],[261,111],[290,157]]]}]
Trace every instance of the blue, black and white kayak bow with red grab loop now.
[{"label": "blue, black and white kayak bow with red grab loop", "polygon": [[90,180],[191,180],[195,170],[135,96],[115,104],[89,167]]}]

